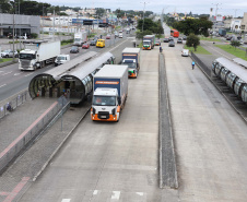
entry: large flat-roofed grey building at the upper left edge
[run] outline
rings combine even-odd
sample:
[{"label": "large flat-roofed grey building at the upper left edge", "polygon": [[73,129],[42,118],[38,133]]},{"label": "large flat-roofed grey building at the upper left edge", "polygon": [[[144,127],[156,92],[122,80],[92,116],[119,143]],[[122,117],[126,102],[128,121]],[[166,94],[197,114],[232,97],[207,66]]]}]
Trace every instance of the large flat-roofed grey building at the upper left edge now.
[{"label": "large flat-roofed grey building at the upper left edge", "polygon": [[0,13],[0,36],[8,36],[10,33],[13,34],[13,26],[15,36],[24,36],[25,34],[30,35],[32,33],[39,35],[39,16],[35,15]]}]

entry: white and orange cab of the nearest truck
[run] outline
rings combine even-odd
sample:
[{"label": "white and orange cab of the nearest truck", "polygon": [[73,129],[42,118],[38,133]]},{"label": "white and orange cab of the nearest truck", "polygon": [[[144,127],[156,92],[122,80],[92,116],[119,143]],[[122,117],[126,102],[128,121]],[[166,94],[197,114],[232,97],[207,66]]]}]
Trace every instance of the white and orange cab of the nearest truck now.
[{"label": "white and orange cab of the nearest truck", "polygon": [[92,120],[118,121],[120,100],[117,88],[96,88],[91,108]]}]

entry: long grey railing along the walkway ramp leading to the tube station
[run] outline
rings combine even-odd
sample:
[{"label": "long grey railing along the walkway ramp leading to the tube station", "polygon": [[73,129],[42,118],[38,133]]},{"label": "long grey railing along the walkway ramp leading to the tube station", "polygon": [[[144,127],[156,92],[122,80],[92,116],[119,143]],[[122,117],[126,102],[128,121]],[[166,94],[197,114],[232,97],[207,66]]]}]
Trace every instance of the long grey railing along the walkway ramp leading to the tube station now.
[{"label": "long grey railing along the walkway ramp leading to the tube station", "polygon": [[64,96],[58,98],[39,118],[37,118],[20,136],[17,136],[4,151],[0,153],[0,171],[17,156],[17,154],[34,140],[47,126],[52,123],[54,118],[64,108],[68,108],[70,102]]}]

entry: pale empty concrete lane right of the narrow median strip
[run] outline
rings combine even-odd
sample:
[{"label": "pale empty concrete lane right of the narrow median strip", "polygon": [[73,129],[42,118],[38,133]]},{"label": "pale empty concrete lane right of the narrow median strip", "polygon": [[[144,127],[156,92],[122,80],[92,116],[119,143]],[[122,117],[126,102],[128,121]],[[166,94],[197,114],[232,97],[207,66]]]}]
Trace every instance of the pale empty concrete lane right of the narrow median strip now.
[{"label": "pale empty concrete lane right of the narrow median strip", "polygon": [[247,126],[220,92],[180,56],[164,48],[181,201],[247,198]]}]

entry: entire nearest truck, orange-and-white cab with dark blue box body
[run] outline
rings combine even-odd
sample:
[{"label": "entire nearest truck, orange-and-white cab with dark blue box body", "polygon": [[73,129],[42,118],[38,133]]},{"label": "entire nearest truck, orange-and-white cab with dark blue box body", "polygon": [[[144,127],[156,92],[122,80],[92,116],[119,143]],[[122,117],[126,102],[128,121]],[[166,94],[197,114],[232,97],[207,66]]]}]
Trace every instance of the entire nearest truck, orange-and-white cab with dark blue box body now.
[{"label": "entire nearest truck, orange-and-white cab with dark blue box body", "polygon": [[91,119],[119,121],[128,96],[128,66],[105,64],[95,75]]}]

